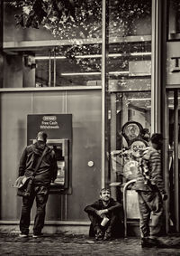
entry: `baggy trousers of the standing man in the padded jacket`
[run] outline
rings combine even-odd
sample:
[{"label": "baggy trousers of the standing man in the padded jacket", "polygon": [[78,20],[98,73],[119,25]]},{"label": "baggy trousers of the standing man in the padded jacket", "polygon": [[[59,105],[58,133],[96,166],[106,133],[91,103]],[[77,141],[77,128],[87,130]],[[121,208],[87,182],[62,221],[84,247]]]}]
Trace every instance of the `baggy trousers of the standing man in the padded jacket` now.
[{"label": "baggy trousers of the standing man in the padded jacket", "polygon": [[[138,191],[139,194],[139,212],[140,212],[140,232],[141,237],[147,237],[149,234],[156,235],[161,231],[163,223],[163,201],[159,192]],[[151,216],[151,232],[149,220]]]}]

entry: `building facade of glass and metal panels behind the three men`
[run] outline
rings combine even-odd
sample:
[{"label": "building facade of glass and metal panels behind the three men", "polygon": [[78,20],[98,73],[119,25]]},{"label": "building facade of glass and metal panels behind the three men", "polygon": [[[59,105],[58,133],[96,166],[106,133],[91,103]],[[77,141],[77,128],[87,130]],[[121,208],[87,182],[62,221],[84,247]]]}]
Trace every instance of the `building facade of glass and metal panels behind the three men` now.
[{"label": "building facade of glass and metal panels behind the three men", "polygon": [[[86,231],[83,209],[105,185],[122,200],[139,149],[147,146],[146,134],[154,132],[165,138],[166,232],[179,232],[179,10],[175,0],[85,1],[74,17],[62,15],[57,24],[52,15],[37,29],[16,25],[14,14],[21,9],[2,3],[4,230],[17,229],[21,199],[12,184],[23,148],[41,128],[60,154],[47,232],[76,231],[76,226]],[[133,209],[136,194],[128,194]],[[137,211],[129,218],[138,219]]]}]

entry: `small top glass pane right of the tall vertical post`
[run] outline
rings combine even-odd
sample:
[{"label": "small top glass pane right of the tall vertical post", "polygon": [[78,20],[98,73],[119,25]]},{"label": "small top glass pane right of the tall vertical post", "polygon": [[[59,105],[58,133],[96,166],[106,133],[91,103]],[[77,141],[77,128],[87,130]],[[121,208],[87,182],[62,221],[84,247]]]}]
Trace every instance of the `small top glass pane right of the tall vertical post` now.
[{"label": "small top glass pane right of the tall vertical post", "polygon": [[151,34],[151,0],[110,0],[109,36]]}]

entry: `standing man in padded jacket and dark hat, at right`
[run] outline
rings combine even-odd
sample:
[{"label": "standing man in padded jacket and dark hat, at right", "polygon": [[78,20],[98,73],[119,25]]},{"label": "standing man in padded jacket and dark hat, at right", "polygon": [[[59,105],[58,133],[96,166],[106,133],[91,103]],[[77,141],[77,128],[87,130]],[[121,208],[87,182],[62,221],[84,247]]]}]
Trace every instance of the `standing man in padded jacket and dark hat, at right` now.
[{"label": "standing man in padded jacket and dark hat, at right", "polygon": [[[141,245],[160,234],[163,223],[163,200],[166,200],[165,186],[163,182],[160,149],[163,145],[163,137],[155,133],[150,138],[150,146],[144,150],[139,164],[139,173],[135,190],[139,197]],[[149,221],[151,216],[151,232]]]}]

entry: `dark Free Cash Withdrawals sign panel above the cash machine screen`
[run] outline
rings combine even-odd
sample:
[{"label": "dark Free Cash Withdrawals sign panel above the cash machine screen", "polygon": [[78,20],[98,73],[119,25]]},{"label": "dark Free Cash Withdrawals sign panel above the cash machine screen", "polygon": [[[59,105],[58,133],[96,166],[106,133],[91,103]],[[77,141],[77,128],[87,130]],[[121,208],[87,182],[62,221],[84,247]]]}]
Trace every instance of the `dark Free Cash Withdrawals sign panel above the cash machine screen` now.
[{"label": "dark Free Cash Withdrawals sign panel above the cash machine screen", "polygon": [[40,114],[28,115],[28,142],[35,138],[40,130],[47,132],[49,138],[72,137],[71,114]]}]

